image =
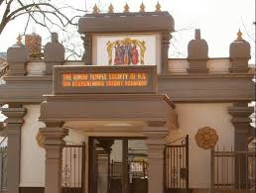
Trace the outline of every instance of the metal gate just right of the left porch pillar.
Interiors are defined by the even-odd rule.
[[[85,145],[65,145],[63,150],[63,193],[84,193]]]

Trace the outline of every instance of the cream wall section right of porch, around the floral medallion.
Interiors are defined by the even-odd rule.
[[[171,131],[169,142],[190,135],[190,187],[209,188],[210,150],[196,145],[194,136],[198,129],[211,127],[216,130],[218,146],[230,149],[234,145],[234,128],[230,123],[228,107],[231,103],[176,104],[180,128]]]

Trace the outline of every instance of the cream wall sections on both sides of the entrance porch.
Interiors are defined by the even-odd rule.
[[[231,103],[182,104],[177,103],[180,128],[171,131],[169,142],[190,135],[190,185],[191,188],[208,188],[210,176],[210,151],[196,145],[194,136],[198,129],[211,127],[219,136],[218,145],[233,145],[234,129],[227,110]],[[21,187],[43,187],[45,183],[45,150],[37,144],[38,129],[44,127],[37,121],[40,105],[25,105],[27,115],[22,128]],[[206,116],[205,116],[206,115]],[[202,119],[203,118],[203,119]],[[86,140],[81,133],[69,131],[64,139],[67,144],[79,144]],[[29,171],[29,172],[28,172]],[[206,177],[208,176],[208,177]]]

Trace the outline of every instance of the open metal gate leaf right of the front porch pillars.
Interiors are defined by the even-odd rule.
[[[166,193],[189,193],[189,136],[166,145]]]

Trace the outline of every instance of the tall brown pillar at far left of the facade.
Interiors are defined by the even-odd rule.
[[[2,108],[2,113],[7,117],[8,137],[8,165],[7,165],[7,190],[19,193],[20,186],[20,152],[21,152],[21,127],[26,109],[21,104],[9,104],[9,108]]]

